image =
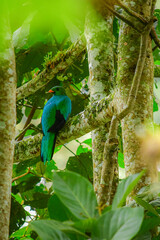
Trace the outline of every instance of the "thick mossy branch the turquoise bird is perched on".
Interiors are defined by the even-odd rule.
[[[73,139],[79,138],[104,125],[112,118],[112,98],[106,97],[89,105],[83,112],[69,119],[64,128],[59,132],[56,144],[64,144]],[[14,161],[24,161],[40,154],[42,134],[25,138],[15,146]]]

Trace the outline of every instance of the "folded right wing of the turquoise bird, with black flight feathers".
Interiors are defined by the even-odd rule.
[[[56,101],[55,122],[49,128],[49,132],[58,132],[65,124],[71,113],[71,100],[67,96],[61,96]]]

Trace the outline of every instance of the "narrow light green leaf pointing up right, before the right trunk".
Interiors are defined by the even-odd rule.
[[[127,196],[137,185],[138,181],[144,175],[144,173],[145,173],[145,170],[140,173],[131,175],[120,182],[117,188],[117,192],[113,199],[112,209],[116,209],[118,207],[123,206]]]

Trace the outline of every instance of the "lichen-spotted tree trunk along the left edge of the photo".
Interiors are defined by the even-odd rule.
[[[6,1],[0,3],[0,240],[9,238],[16,126],[16,70]]]

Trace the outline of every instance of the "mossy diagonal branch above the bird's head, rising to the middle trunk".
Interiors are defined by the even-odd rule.
[[[81,38],[74,43],[70,48],[59,52],[49,63],[46,69],[39,73],[34,79],[17,89],[17,100],[28,97],[34,94],[40,88],[44,87],[50,82],[56,74],[65,71],[73,62],[85,52],[85,39]]]

